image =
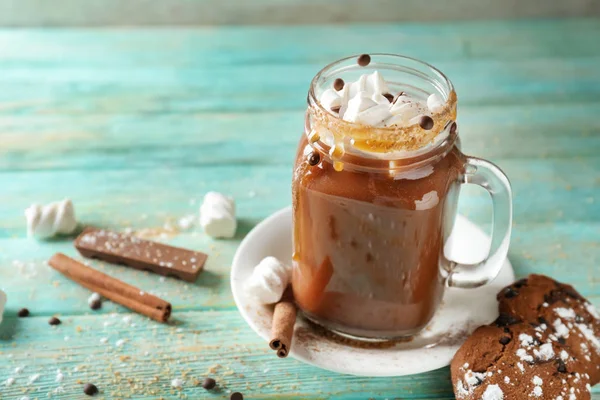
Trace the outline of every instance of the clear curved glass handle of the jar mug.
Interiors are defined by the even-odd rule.
[[[512,190],[504,173],[489,161],[467,157],[463,184],[479,185],[492,198],[492,243],[485,260],[477,264],[450,263],[448,286],[476,288],[492,281],[508,254],[512,229]]]

